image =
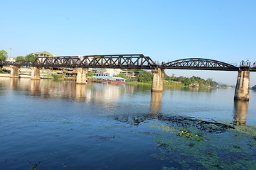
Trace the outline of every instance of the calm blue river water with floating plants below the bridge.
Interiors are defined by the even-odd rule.
[[[256,92],[0,78],[0,169],[256,169]]]

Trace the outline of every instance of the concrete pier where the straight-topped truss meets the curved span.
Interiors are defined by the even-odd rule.
[[[164,69],[152,69],[153,81],[151,91],[163,91]]]

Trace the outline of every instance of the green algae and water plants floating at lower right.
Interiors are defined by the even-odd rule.
[[[152,156],[170,160],[184,169],[256,169],[255,127],[235,126],[223,132],[197,127],[181,127],[175,123],[151,126],[160,130],[154,138],[159,152]],[[174,167],[166,165],[162,169],[176,169]]]

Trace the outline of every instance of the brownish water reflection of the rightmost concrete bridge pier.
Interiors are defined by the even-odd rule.
[[[235,101],[234,103],[234,125],[245,125],[249,101]]]

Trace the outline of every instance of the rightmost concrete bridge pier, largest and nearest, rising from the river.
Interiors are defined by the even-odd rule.
[[[249,101],[250,71],[239,70],[234,100]]]

